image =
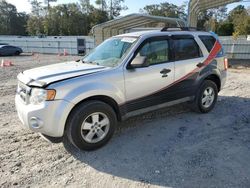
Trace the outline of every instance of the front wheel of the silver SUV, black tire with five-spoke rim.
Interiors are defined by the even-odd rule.
[[[81,150],[95,150],[107,144],[116,125],[116,114],[109,105],[87,101],[70,113],[63,141],[69,141]]]

